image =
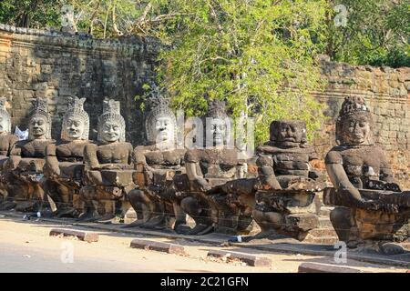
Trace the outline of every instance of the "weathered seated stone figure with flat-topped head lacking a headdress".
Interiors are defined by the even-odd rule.
[[[302,240],[318,224],[313,198],[324,184],[310,161],[315,159],[307,145],[302,121],[273,121],[270,141],[257,148],[259,176],[253,218],[263,236],[284,235]]]

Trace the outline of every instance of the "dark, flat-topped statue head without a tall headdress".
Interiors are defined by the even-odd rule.
[[[269,132],[270,140],[276,146],[287,148],[306,146],[306,123],[304,121],[274,120]]]

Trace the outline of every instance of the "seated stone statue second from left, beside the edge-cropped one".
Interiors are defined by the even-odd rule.
[[[46,146],[51,139],[51,118],[47,99],[36,98],[29,115],[28,139],[15,143],[7,162],[7,193],[17,210],[32,211],[47,204],[41,187]]]

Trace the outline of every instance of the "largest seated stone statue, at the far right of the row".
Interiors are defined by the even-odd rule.
[[[356,247],[408,238],[410,192],[401,192],[383,150],[374,145],[374,122],[361,97],[346,97],[336,121],[334,146],[325,158],[334,188],[324,202],[339,239]],[[363,244],[362,244],[363,243]]]

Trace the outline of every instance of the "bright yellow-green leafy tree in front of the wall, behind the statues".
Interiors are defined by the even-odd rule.
[[[172,103],[200,115],[225,99],[234,116],[255,117],[258,143],[274,119],[302,119],[313,133],[323,106],[313,55],[323,49],[324,0],[150,1],[148,25],[172,49],[160,54],[159,80]]]

